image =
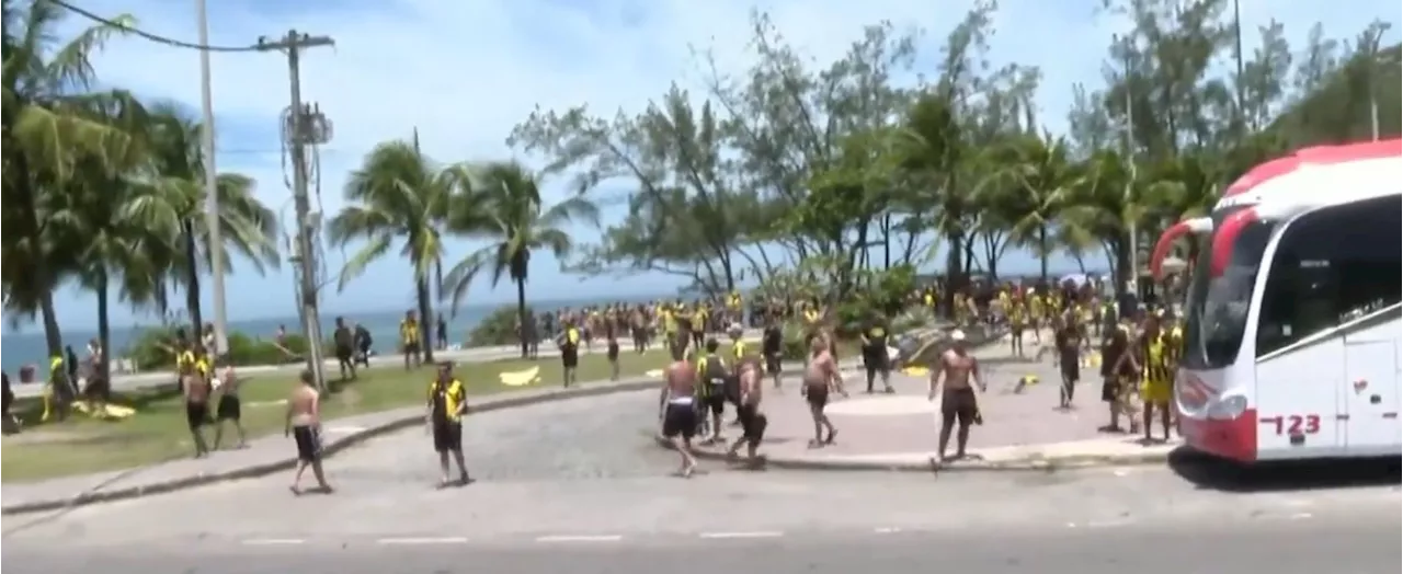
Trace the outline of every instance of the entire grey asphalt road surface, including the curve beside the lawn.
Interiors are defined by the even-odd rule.
[[[0,518],[0,571],[1397,571],[1388,465],[936,477],[704,463],[680,480],[648,441],[655,400],[471,417],[480,481],[463,488],[432,487],[429,439],[411,429],[331,459],[333,495],[293,498],[272,476]]]

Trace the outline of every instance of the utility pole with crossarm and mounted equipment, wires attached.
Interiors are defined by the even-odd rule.
[[[283,118],[283,139],[292,156],[292,198],[297,211],[297,254],[296,265],[302,279],[303,334],[307,338],[307,368],[311,371],[317,389],[325,390],[321,358],[321,317],[317,314],[317,250],[316,234],[320,233],[320,213],[311,215],[311,198],[307,196],[307,154],[306,146],[325,143],[331,129],[327,118],[314,105],[302,101],[302,51],[307,48],[334,46],[330,36],[311,36],[288,31],[279,39],[258,38],[262,51],[285,52],[288,74],[292,80],[292,104]]]

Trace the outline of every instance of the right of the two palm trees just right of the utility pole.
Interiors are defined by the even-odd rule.
[[[445,276],[452,293],[450,307],[457,312],[469,285],[483,274],[492,274],[492,286],[502,276],[516,283],[516,317],[526,326],[526,281],[532,251],[549,250],[564,261],[574,248],[571,223],[599,226],[599,209],[584,196],[571,196],[543,206],[540,184],[526,167],[515,161],[491,163],[474,174],[470,192],[453,196],[448,229],[490,243],[473,251]],[[521,328],[522,358],[530,351],[528,330]]]

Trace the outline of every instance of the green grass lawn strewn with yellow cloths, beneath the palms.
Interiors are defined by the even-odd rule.
[[[647,355],[623,352],[620,375],[638,376],[666,363],[668,354],[652,349]],[[540,366],[540,382],[528,387],[508,387],[498,375]],[[340,417],[424,404],[427,386],[435,371],[424,366],[405,372],[403,366],[379,366],[361,372],[359,380],[337,385],[324,399],[323,417]],[[539,361],[497,361],[459,363],[456,373],[467,385],[469,400],[474,396],[530,387],[558,387],[560,358]],[[337,376],[334,371],[328,376]],[[582,383],[609,379],[610,369],[602,349],[579,358],[578,380]],[[174,379],[174,376],[173,376]],[[288,396],[296,375],[290,372],[258,375],[244,382],[243,424],[248,438],[267,436],[282,431]],[[121,470],[163,460],[189,456],[189,432],[185,428],[185,407],[171,387],[142,390],[114,397],[114,404],[136,408],[136,414],[122,421],[98,421],[74,413],[69,421],[39,424],[42,406],[38,400],[21,400],[15,413],[24,421],[24,432],[0,438],[0,483],[34,481],[69,474]],[[212,403],[213,404],[213,403]],[[233,443],[230,428],[220,448]],[[213,431],[206,428],[206,438]]]

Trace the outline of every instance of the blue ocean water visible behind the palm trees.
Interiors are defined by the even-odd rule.
[[[658,298],[672,298],[675,295],[659,295]],[[620,298],[609,299],[607,302],[648,302],[654,298],[634,296],[634,298]],[[537,312],[556,310],[560,307],[581,307],[585,305],[603,305],[605,300],[540,300],[528,302]],[[467,305],[457,310],[456,317],[448,320],[449,344],[463,344],[467,340],[467,333],[473,330],[484,317],[491,314],[494,310],[502,305]],[[203,309],[206,313],[206,321],[213,319],[209,313],[210,309]],[[382,310],[382,312],[368,312],[368,313],[334,313],[321,312],[321,333],[325,337],[331,337],[334,323],[337,316],[344,316],[348,323],[359,321],[365,328],[370,330],[370,335],[375,338],[375,345],[379,351],[386,351],[389,347],[398,341],[400,320],[404,319],[404,309],[398,310]],[[233,319],[233,317],[231,317]],[[153,321],[154,323],[154,321]],[[122,356],[128,345],[140,337],[140,333],[152,327],[153,323],[147,323],[145,327],[137,326],[112,326],[112,356]],[[302,333],[302,326],[297,316],[290,317],[269,317],[269,319],[254,319],[254,320],[230,320],[229,330],[239,331],[248,337],[272,340],[278,333],[279,326],[286,326],[288,333]],[[73,349],[81,356],[83,348],[88,340],[97,338],[95,328],[63,328],[63,342],[73,345]],[[41,372],[48,361],[43,356],[48,354],[43,342],[43,328],[41,326],[27,326],[22,331],[7,331],[0,334],[0,369],[4,369],[11,376],[18,373],[22,365],[38,365]]]

